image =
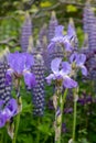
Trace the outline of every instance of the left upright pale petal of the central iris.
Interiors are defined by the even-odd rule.
[[[55,58],[51,63],[51,69],[54,74],[58,73],[58,67],[62,62],[62,58]]]

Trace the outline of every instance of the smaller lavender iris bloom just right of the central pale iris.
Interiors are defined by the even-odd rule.
[[[77,53],[73,53],[70,57],[71,63],[75,63],[75,66],[77,68],[82,69],[82,74],[84,76],[87,76],[87,68],[85,67],[85,62],[86,62],[86,55],[84,54],[77,54]]]

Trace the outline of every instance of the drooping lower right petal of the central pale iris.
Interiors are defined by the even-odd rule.
[[[77,87],[77,82],[70,78],[68,76],[64,78],[63,85],[65,88],[75,88]]]

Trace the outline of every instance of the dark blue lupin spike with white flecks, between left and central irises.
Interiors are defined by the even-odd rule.
[[[35,75],[36,85],[32,89],[33,97],[33,114],[43,116],[45,107],[45,67],[43,58],[40,54],[35,57],[35,64],[32,67],[32,72]]]

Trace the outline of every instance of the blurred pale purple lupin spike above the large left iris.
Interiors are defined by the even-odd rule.
[[[25,21],[22,26],[22,32],[21,32],[21,48],[23,52],[26,52],[28,46],[29,46],[29,38],[32,35],[32,23],[31,23],[31,18],[29,13],[25,14]]]

